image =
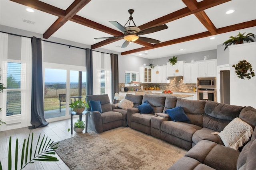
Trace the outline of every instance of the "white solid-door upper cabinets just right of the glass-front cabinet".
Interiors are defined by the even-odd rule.
[[[156,74],[156,71],[158,71],[158,74]],[[152,83],[169,83],[166,77],[167,66],[155,66],[154,69],[152,69]]]

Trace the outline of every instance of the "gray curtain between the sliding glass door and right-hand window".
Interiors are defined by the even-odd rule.
[[[86,95],[93,94],[92,49],[86,49]]]

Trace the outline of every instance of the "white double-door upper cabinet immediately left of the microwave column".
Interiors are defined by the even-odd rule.
[[[196,83],[198,77],[198,63],[185,63],[183,65],[183,83]]]

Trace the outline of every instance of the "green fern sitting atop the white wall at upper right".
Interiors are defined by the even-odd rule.
[[[249,42],[254,42],[254,40],[252,39],[252,37],[254,38],[254,34],[253,33],[248,33],[246,35],[244,35],[244,33],[238,33],[238,35],[236,35],[236,37],[231,36],[230,39],[228,39],[227,41],[225,41],[222,45],[225,45],[225,49],[228,48],[229,45],[234,45],[234,44],[242,44],[244,43],[244,41],[246,41],[247,43]]]

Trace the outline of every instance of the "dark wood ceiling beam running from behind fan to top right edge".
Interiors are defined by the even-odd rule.
[[[190,0],[188,0],[188,1],[190,1]],[[230,0],[204,0],[204,1],[198,2],[198,4],[197,4],[198,8],[196,10],[190,11],[190,9],[188,7],[182,8],[178,11],[167,14],[166,16],[162,16],[156,20],[153,20],[153,21],[150,21],[143,25],[140,25],[139,28],[141,30],[143,30],[143,29],[147,29],[147,28],[154,27],[157,25],[162,25],[162,24],[168,23],[170,21],[174,21],[174,20],[180,19],[182,17],[194,14],[196,12],[200,12],[202,10],[206,10],[208,8],[212,8],[214,6],[226,3],[228,1],[230,1]]]

